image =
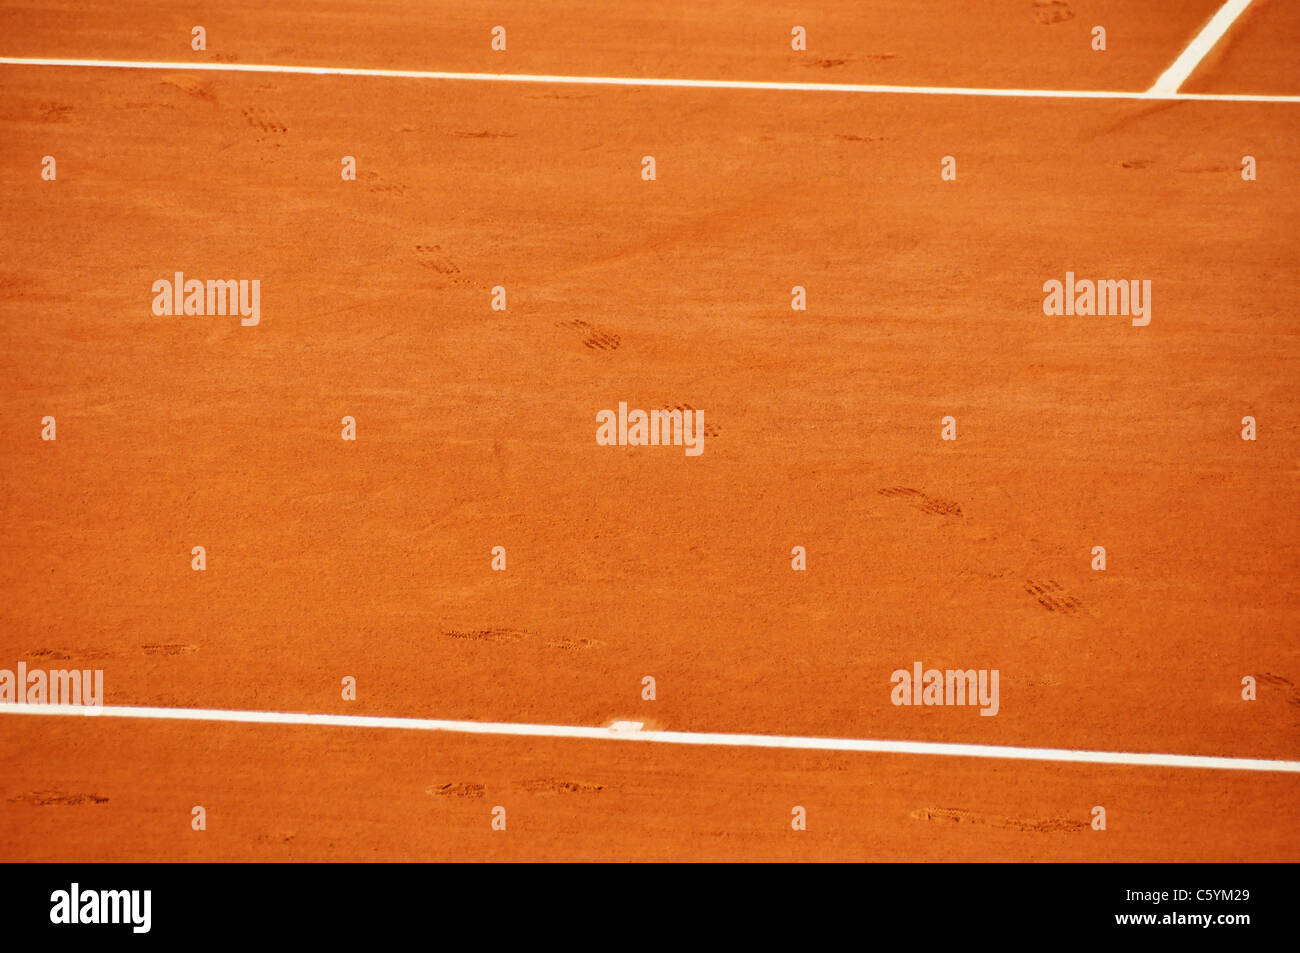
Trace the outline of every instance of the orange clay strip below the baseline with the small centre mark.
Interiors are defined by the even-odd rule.
[[[1282,775],[21,720],[40,768],[3,781],[8,859],[1295,859]]]

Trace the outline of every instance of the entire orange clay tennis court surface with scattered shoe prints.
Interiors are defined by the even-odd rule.
[[[812,7],[4,3],[0,56],[1141,92],[1221,4]],[[1182,87],[1240,100],[0,65],[0,667],[1292,764],[10,711],[0,857],[1300,859],[1295,38],[1256,0]],[[177,270],[260,324],[155,316]],[[1150,324],[1045,316],[1066,270]],[[703,454],[598,446],[620,400]],[[916,660],[998,714],[894,706]]]

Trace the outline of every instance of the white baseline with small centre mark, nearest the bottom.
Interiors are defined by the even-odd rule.
[[[1010,745],[956,745],[936,741],[879,741],[868,738],[818,738],[785,735],[723,735],[686,731],[637,731],[627,722],[598,728],[575,724],[526,724],[520,722],[452,722],[436,718],[385,715],[321,715],[289,711],[229,711],[224,709],[151,709],[131,705],[0,705],[0,714],[78,715],[82,718],[155,718],[179,722],[243,722],[254,724],[306,724],[334,728],[398,728],[443,731],[460,735],[514,735],[595,741],[644,741],[663,745],[720,745],[724,748],[798,748],[816,751],[874,751],[878,754],[923,754],[949,758],[1004,758],[1011,761],[1067,761],[1089,764],[1138,764],[1143,767],[1191,767],[1210,771],[1284,771],[1300,774],[1300,761],[1262,758],[1214,758],[1201,754],[1139,754],[1135,751],[1076,751],[1067,748],[1015,748]],[[632,723],[634,724],[634,723]]]

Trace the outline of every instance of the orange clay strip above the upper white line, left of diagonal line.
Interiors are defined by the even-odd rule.
[[[1262,0],[1256,0],[1261,3]],[[693,79],[1144,90],[1218,0],[261,0],[204,4],[6,0],[12,56]],[[202,21],[202,22],[200,22]],[[190,49],[190,30],[208,49]],[[507,49],[489,34],[507,30]],[[790,49],[790,30],[807,51]],[[1106,29],[1105,53],[1089,46]],[[21,40],[21,42],[20,42]],[[1277,42],[1277,40],[1275,40]],[[1280,43],[1277,43],[1279,47]],[[448,88],[456,98],[473,92]],[[404,96],[407,94],[398,94]],[[404,101],[391,101],[402,112]],[[716,107],[715,107],[716,108]]]

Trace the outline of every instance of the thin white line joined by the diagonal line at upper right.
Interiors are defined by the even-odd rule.
[[[880,92],[919,96],[1001,96],[1028,99],[1199,100],[1210,103],[1300,103],[1296,96],[1219,92],[1121,92],[1108,90],[1000,90],[966,86],[879,86],[871,83],[777,83],[745,79],[663,79],[649,77],[569,77],[537,73],[443,73],[421,69],[361,69],[351,66],[272,66],[252,62],[156,62],[148,60],[49,60],[0,56],[9,66],[84,66],[103,69],[207,70],[212,73],[300,73],[329,77],[389,79],[458,79],[480,83],[558,83],[575,86],[659,86],[699,90],[784,90],[793,92]]]

